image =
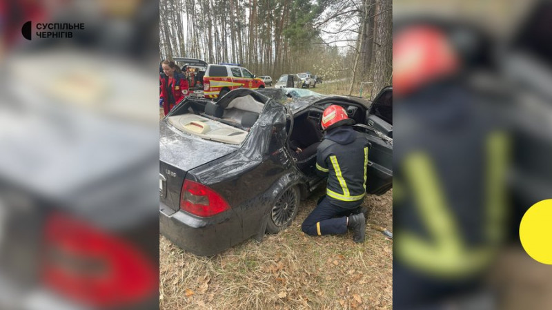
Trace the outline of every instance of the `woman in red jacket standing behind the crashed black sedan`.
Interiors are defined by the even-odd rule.
[[[167,115],[181,99],[188,95],[188,80],[174,61],[164,60],[161,62],[161,66],[167,77],[166,83],[161,86],[159,97],[163,100],[163,109]]]

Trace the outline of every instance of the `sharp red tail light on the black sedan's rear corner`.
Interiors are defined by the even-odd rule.
[[[201,217],[213,216],[230,209],[221,195],[204,184],[184,180],[180,209]]]

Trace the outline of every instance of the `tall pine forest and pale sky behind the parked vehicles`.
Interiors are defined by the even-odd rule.
[[[339,93],[391,85],[391,0],[160,0],[162,59],[239,63],[273,80],[311,72]]]

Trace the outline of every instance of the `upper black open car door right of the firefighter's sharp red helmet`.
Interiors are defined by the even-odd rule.
[[[384,135],[393,137],[393,87],[383,88],[375,97],[366,115],[366,124]]]

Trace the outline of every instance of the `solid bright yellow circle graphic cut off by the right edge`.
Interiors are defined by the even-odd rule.
[[[538,262],[552,264],[552,199],[533,204],[520,223],[523,249]]]

